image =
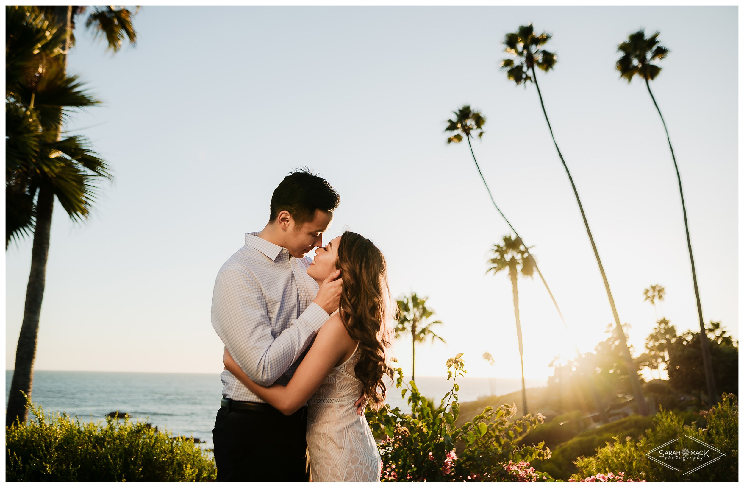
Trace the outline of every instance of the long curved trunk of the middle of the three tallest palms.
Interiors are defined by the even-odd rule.
[[[591,236],[591,230],[589,229],[589,221],[586,220],[586,214],[584,213],[583,205],[581,205],[581,199],[579,198],[579,192],[576,189],[576,185],[574,184],[574,179],[573,177],[571,177],[571,172],[568,171],[568,165],[565,164],[565,159],[563,159],[563,155],[560,152],[560,148],[558,147],[556,138],[553,135],[553,128],[551,127],[551,121],[550,119],[548,119],[548,112],[545,111],[545,103],[542,101],[542,93],[540,92],[540,86],[537,84],[537,74],[535,73],[534,66],[532,66],[532,77],[533,77],[532,78],[533,81],[535,82],[535,86],[537,88],[537,95],[540,98],[540,106],[542,106],[542,113],[543,115],[545,115],[545,122],[548,123],[548,130],[550,130],[551,132],[551,138],[553,139],[553,144],[556,147],[560,161],[563,164],[563,168],[565,169],[565,173],[568,175],[568,180],[571,182],[571,188],[574,189],[574,196],[576,196],[576,202],[579,204],[579,210],[581,211],[581,217],[583,218],[584,226],[586,227],[586,234],[589,235],[591,249],[594,250],[594,257],[597,258],[597,265],[600,268],[600,274],[602,275],[602,280],[604,281],[604,286],[605,286],[605,290],[607,291],[607,298],[609,299],[610,308],[612,308],[612,316],[614,316],[614,319],[615,319],[615,330],[618,333],[618,338],[621,339],[620,350],[623,352],[623,358],[625,359],[626,367],[628,369],[628,373],[630,377],[630,384],[633,389],[633,397],[635,397],[635,405],[638,407],[638,414],[641,416],[647,416],[649,414],[649,409],[646,403],[646,399],[644,398],[643,389],[641,389],[641,381],[638,379],[638,369],[635,368],[635,363],[633,362],[633,359],[630,356],[630,349],[628,348],[628,339],[625,336],[625,331],[623,331],[622,323],[620,323],[620,317],[618,316],[618,310],[615,307],[615,299],[612,298],[612,292],[609,290],[609,282],[607,281],[607,275],[605,275],[604,267],[602,266],[602,261],[600,260],[600,254],[599,252],[597,252],[597,245],[594,244],[594,237]]]

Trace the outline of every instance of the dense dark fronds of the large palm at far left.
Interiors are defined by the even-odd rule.
[[[96,182],[111,178],[86,138],[60,138],[71,109],[100,102],[65,73],[60,42],[66,33],[43,11],[6,7],[6,248],[33,232],[40,188],[50,188],[68,216],[80,220],[89,214]]]

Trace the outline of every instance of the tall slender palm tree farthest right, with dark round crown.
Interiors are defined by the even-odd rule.
[[[658,108],[658,103],[656,103],[653,92],[651,92],[651,85],[649,83],[650,80],[655,79],[655,77],[661,73],[661,68],[658,65],[655,65],[654,62],[657,60],[663,60],[669,53],[667,48],[659,44],[658,36],[659,33],[655,32],[651,37],[646,39],[646,33],[643,29],[630,34],[627,41],[621,42],[620,45],[618,45],[618,51],[623,53],[623,55],[620,57],[618,62],[615,63],[615,69],[620,71],[620,77],[628,80],[628,83],[630,83],[636,75],[643,78],[653,105],[656,107],[656,112],[658,112],[658,116],[661,118],[664,132],[667,134],[667,143],[669,144],[670,153],[672,153],[672,162],[674,163],[674,170],[677,174],[679,198],[682,200],[684,234],[687,237],[687,252],[690,255],[690,267],[693,270],[693,289],[695,290],[695,300],[697,303],[698,321],[700,325],[700,349],[702,350],[703,368],[705,368],[705,386],[708,391],[708,403],[712,405],[716,402],[718,394],[716,393],[716,379],[713,375],[711,347],[708,345],[708,334],[705,333],[705,322],[702,319],[702,305],[700,304],[700,292],[697,285],[695,259],[693,258],[693,245],[690,241],[690,226],[687,224],[687,207],[684,205],[684,193],[682,192],[682,177],[679,176],[679,167],[677,166],[677,159],[674,156],[674,148],[672,147],[672,140],[669,137],[667,123],[664,121],[664,116],[661,115],[661,109]]]

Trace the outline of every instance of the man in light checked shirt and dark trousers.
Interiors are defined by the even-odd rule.
[[[222,265],[212,298],[212,325],[248,377],[286,385],[315,333],[339,307],[341,279],[318,288],[307,252],[322,246],[339,194],[306,170],[289,173],[272,195],[269,223],[246,234],[246,246]],[[222,371],[214,423],[219,482],[307,482],[307,407],[284,416]]]

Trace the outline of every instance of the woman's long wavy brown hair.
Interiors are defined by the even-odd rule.
[[[341,269],[339,316],[361,351],[354,375],[362,382],[370,406],[379,409],[392,377],[388,362],[391,343],[391,300],[385,257],[367,238],[351,231],[341,234],[336,268]]]

